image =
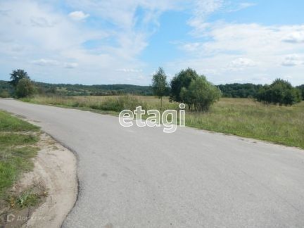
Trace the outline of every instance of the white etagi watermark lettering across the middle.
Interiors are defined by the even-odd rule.
[[[179,104],[179,126],[185,126],[185,105]],[[141,120],[142,115],[148,115],[146,120]],[[122,127],[132,127],[134,125],[134,115],[136,115],[136,125],[138,127],[160,127],[163,125],[163,132],[172,133],[177,129],[177,110],[165,110],[162,115],[156,109],[143,110],[138,106],[134,113],[132,110],[122,110],[119,115],[119,122]]]

